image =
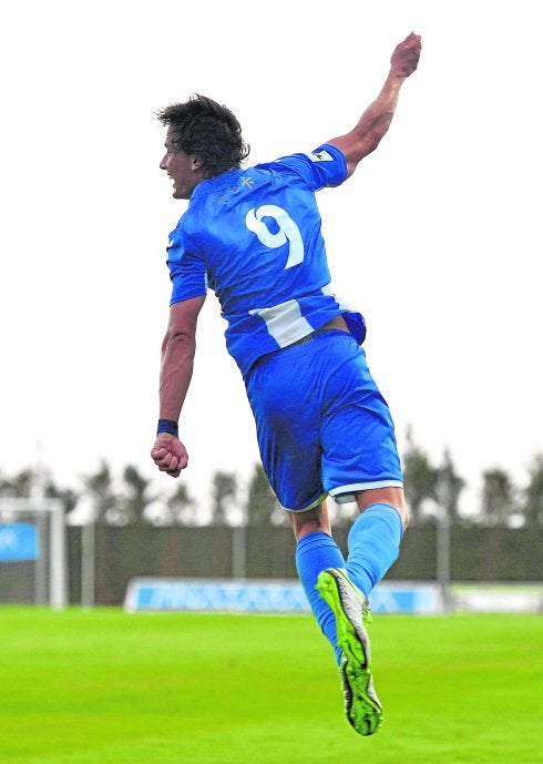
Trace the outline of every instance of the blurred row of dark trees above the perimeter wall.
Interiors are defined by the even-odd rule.
[[[473,508],[469,517],[459,511],[467,483],[458,473],[447,449],[441,464],[433,464],[416,442],[409,428],[402,464],[411,524],[434,523],[440,512],[444,512],[451,524],[543,524],[543,455],[533,457],[524,486],[518,486],[511,475],[500,467],[485,470],[482,473],[479,506]],[[37,488],[48,498],[60,499],[66,515],[83,502],[96,522],[112,526],[197,526],[202,524],[203,510],[206,524],[213,526],[277,526],[288,522],[260,465],[254,466],[247,486],[242,486],[233,472],[215,471],[209,506],[205,508],[182,481],[177,481],[167,496],[156,495],[152,480],[133,465],[124,468],[120,487],[105,460],[95,471],[82,477],[80,489],[61,488],[51,473],[39,473],[32,468],[22,469],[14,476],[0,472],[0,498],[35,496]],[[336,526],[346,524],[355,513],[356,507],[352,505],[335,506],[334,522]]]

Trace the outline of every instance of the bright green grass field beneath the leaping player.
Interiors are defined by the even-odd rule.
[[[0,608],[2,764],[541,764],[537,615],[376,617],[381,731],[310,617]]]

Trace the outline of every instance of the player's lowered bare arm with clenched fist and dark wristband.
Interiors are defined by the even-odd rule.
[[[160,419],[177,422],[193,376],[196,323],[205,297],[175,303],[162,343]],[[151,457],[162,472],[177,478],[188,464],[185,446],[172,432],[160,432]]]

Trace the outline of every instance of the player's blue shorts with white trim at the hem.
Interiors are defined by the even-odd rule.
[[[326,329],[266,355],[245,384],[264,469],[285,509],[402,486],[387,401],[350,334]]]

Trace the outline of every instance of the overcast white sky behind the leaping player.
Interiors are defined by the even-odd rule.
[[[185,203],[158,170],[154,113],[226,103],[250,162],[354,126],[390,53],[419,71],[378,151],[318,196],[337,291],[365,313],[396,419],[477,500],[482,470],[525,482],[543,451],[537,3],[21,0],[3,7],[0,471],[42,461],[78,488],[102,458],[155,478],[167,234]],[[257,461],[213,294],[181,430],[185,479]],[[174,481],[156,473],[157,490]],[[470,498],[471,497],[471,498]]]

